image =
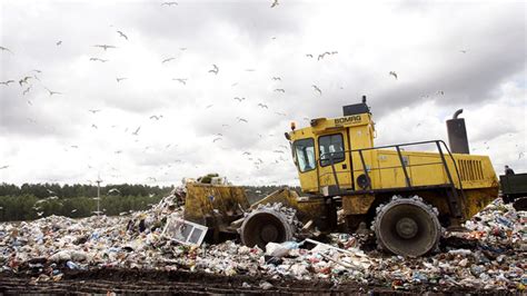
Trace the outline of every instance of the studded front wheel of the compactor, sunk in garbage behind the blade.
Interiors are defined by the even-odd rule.
[[[241,243],[248,247],[266,247],[268,243],[291,240],[299,225],[296,210],[268,205],[250,213],[240,229]]]

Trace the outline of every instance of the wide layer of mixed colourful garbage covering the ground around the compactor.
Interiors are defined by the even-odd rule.
[[[66,269],[141,268],[250,275],[275,279],[357,282],[394,289],[426,285],[524,290],[527,286],[527,215],[496,199],[471,220],[468,233],[447,234],[470,248],[445,246],[422,258],[362,251],[355,235],[269,243],[266,249],[227,240],[181,244],[163,233],[167,217],[182,217],[177,195],[130,215],[70,219],[51,216],[0,224],[0,268],[34,280],[60,280]],[[262,285],[268,286],[265,282]]]

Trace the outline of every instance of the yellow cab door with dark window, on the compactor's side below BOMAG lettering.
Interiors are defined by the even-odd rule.
[[[336,174],[340,188],[351,189],[351,160],[346,130],[318,136],[317,145],[320,187],[337,185],[335,180]],[[331,167],[331,158],[335,174]]]

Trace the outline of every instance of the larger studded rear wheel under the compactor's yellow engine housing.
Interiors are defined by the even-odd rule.
[[[441,237],[437,209],[421,198],[394,197],[377,208],[374,229],[380,248],[397,255],[419,257],[434,249]]]

